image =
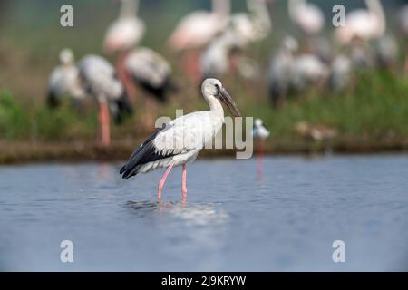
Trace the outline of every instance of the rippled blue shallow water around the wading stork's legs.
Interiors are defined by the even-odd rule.
[[[0,167],[1,270],[408,270],[408,156],[197,160],[163,170]],[[73,263],[60,243],[73,241]],[[345,242],[345,263],[332,243]]]

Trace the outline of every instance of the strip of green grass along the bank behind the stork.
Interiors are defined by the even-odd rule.
[[[340,136],[408,140],[408,81],[393,73],[361,73],[353,90],[337,94],[304,92],[287,100],[280,110],[270,106],[262,89],[254,88],[256,92],[249,93],[242,85],[231,87],[231,83],[228,89],[240,111],[263,119],[277,139],[296,138],[296,123],[307,121],[334,128]],[[206,108],[202,99],[188,99],[187,94],[174,97],[170,106],[160,109],[160,115],[173,118],[176,108],[184,108],[186,113]],[[141,109],[137,108],[141,104],[122,127],[113,126],[115,138],[140,133],[136,124]],[[4,140],[91,140],[96,130],[96,106],[78,113],[65,102],[59,110],[49,110],[44,102],[17,102],[12,92],[0,92],[0,133]]]

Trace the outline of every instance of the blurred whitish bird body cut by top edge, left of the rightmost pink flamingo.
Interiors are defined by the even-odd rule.
[[[325,14],[306,0],[288,0],[288,10],[290,19],[307,35],[316,35],[325,26]]]

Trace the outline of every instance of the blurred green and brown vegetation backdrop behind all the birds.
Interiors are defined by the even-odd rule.
[[[320,0],[318,4],[331,19],[333,5],[343,4],[346,11],[364,7],[363,0]],[[386,8],[388,31],[395,30],[395,14],[406,1],[383,1]],[[60,7],[71,4],[74,9],[74,27],[59,24]],[[233,0],[233,12],[246,11],[246,3]],[[262,43],[251,46],[248,55],[256,59],[266,75],[268,59],[283,35],[300,36],[287,16],[287,1],[276,0],[269,5],[274,24],[272,34]],[[197,9],[209,9],[209,0],[143,1],[140,17],[147,33],[142,45],[163,54],[172,63],[175,75],[185,88],[180,96],[158,114],[174,116],[174,109],[195,111],[206,108],[196,88],[186,88],[185,78],[177,68],[174,53],[165,42],[180,17]],[[102,53],[106,28],[116,19],[119,2],[116,0],[1,0],[0,2],[0,140],[95,140],[97,128],[96,107],[87,114],[72,111],[69,105],[60,111],[49,111],[44,105],[49,73],[58,64],[58,53],[71,47],[77,59],[87,53]],[[332,40],[332,26],[327,20],[323,35]],[[402,47],[404,42],[399,37]],[[403,60],[404,52],[401,56]],[[106,55],[105,55],[106,56]],[[112,57],[108,58],[113,61]],[[294,127],[299,121],[324,124],[339,131],[333,147],[347,144],[384,141],[390,147],[406,147],[408,140],[408,82],[401,72],[371,71],[362,73],[353,92],[332,95],[331,92],[306,92],[290,101],[285,110],[274,110],[267,98],[265,80],[257,84],[239,82],[232,76],[228,88],[234,93],[238,106],[247,116],[261,117],[273,131],[270,148],[290,150],[296,142],[303,142]],[[261,85],[258,85],[261,84]],[[251,87],[252,85],[252,87]],[[140,108],[141,109],[141,108]],[[113,140],[142,138],[136,115],[124,126],[113,129]],[[139,110],[140,111],[140,110]],[[396,144],[396,145],[395,145]],[[306,147],[314,146],[306,144]],[[296,147],[296,146],[295,146]],[[380,146],[381,147],[381,146]]]

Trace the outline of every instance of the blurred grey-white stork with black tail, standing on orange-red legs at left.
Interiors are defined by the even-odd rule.
[[[99,121],[102,145],[111,143],[110,110],[116,122],[125,114],[131,114],[131,106],[121,81],[112,64],[98,55],[87,55],[78,64],[83,87],[100,106]]]

